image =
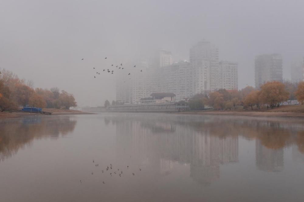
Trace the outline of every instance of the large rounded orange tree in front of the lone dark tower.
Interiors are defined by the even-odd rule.
[[[271,108],[275,106],[279,107],[281,102],[288,100],[288,97],[289,93],[282,82],[272,81],[261,86],[259,99]]]

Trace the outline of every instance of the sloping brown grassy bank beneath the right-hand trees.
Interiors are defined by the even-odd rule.
[[[274,107],[273,109],[243,109],[242,107],[233,110],[208,109],[202,111],[180,112],[178,114],[304,118],[304,105],[284,105],[280,107]]]

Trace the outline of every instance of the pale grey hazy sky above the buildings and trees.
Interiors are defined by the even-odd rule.
[[[281,53],[290,79],[291,63],[304,56],[303,8],[303,0],[0,0],[0,68],[97,106],[115,99],[116,76],[93,79],[93,66],[159,48],[188,60],[190,47],[206,39],[219,59],[239,62],[239,88],[254,86],[258,54]]]

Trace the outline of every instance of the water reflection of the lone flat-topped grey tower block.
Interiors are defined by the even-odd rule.
[[[257,169],[280,172],[284,167],[283,149],[270,149],[262,145],[261,140],[255,140],[255,157]]]

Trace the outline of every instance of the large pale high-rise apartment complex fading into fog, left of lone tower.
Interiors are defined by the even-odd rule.
[[[119,77],[116,100],[123,103],[141,103],[152,93],[174,93],[175,101],[188,99],[197,93],[218,89],[238,89],[238,63],[220,61],[219,50],[206,40],[190,49],[190,62],[172,62],[172,54],[159,50],[152,60],[136,62],[130,78]],[[140,72],[139,69],[143,69]]]

